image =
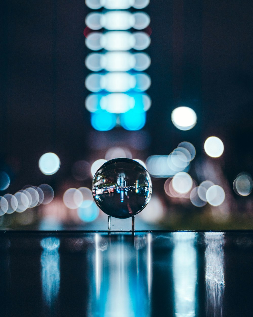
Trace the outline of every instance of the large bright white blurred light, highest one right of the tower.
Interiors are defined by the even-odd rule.
[[[171,113],[171,120],[179,130],[187,131],[197,123],[195,111],[189,107],[177,107]]]

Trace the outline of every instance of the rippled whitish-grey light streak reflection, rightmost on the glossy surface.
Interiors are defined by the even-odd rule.
[[[223,232],[205,232],[205,243],[207,316],[220,317],[225,288]]]

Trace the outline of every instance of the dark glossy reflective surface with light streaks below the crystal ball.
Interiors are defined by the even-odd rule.
[[[251,316],[253,232],[0,232],[0,316]]]

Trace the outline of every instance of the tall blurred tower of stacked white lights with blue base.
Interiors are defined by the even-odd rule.
[[[131,6],[143,9],[148,1],[86,1],[95,11],[87,15],[85,23],[92,30],[85,44],[90,53],[85,65],[93,73],[85,80],[89,94],[86,109],[91,112],[91,125],[98,131],[108,131],[116,125],[124,129],[140,130],[146,122],[150,97],[144,92],[150,87],[150,77],[142,71],[150,66],[144,52],[150,36],[144,30],[150,23],[145,12],[130,12]],[[132,32],[131,28],[136,31]]]

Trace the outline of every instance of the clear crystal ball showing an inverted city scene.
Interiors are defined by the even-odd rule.
[[[92,194],[107,215],[128,218],[147,205],[152,194],[149,173],[132,159],[111,159],[96,172]]]

